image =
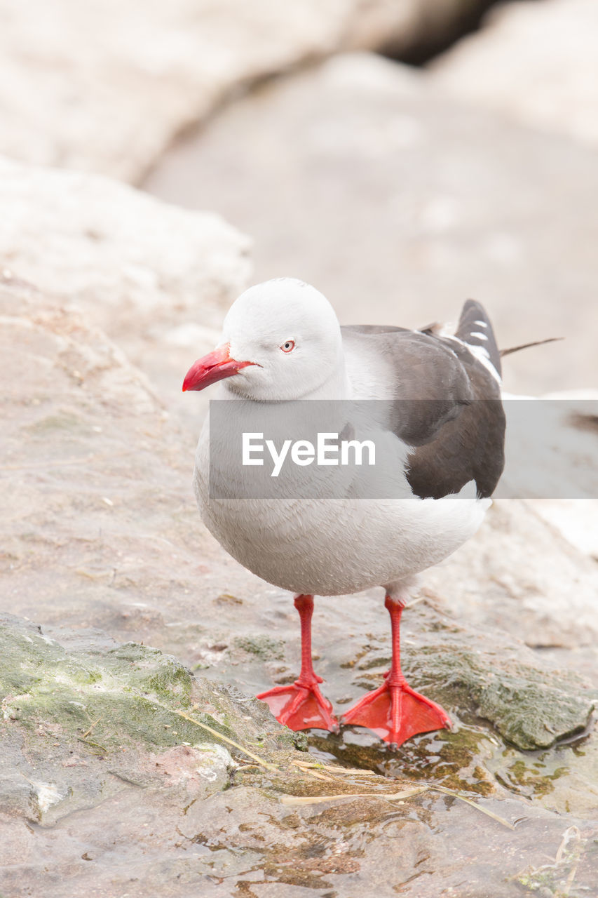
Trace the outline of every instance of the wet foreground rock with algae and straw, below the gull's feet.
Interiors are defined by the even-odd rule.
[[[516,896],[540,878],[558,888],[574,868],[582,889],[591,882],[592,825],[564,827],[479,770],[469,784],[447,775],[452,758],[467,776],[459,732],[418,737],[396,756],[346,739],[339,767],[297,752],[304,739],[261,703],[155,649],[85,631],[64,630],[58,642],[13,615],[0,622],[0,646],[6,894],[36,894],[40,876],[48,895],[65,894],[66,879],[69,894],[177,896],[349,896],[373,883],[384,895],[475,895],[488,881],[493,894]],[[320,742],[330,754],[330,740]],[[376,751],[385,777],[368,771]],[[431,753],[441,776],[430,777]],[[522,765],[508,773],[529,791]],[[475,858],[480,832],[485,853]],[[542,863],[550,850],[554,862]]]

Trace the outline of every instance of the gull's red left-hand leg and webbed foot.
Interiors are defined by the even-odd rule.
[[[301,673],[290,685],[275,686],[260,692],[257,698],[268,704],[279,723],[292,730],[317,728],[336,733],[337,718],[332,714],[330,701],[321,694],[318,683],[322,679],[312,666],[313,596],[295,596],[295,608],[301,618]]]

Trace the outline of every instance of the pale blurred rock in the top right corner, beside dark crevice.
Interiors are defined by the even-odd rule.
[[[432,64],[448,96],[532,128],[598,144],[593,0],[510,3]]]

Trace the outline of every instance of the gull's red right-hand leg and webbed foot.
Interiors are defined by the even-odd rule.
[[[391,614],[392,664],[382,686],[368,692],[343,715],[342,722],[367,726],[384,742],[400,745],[412,735],[446,727],[451,721],[444,710],[411,689],[400,669],[400,615],[402,605],[390,595],[384,602]]]

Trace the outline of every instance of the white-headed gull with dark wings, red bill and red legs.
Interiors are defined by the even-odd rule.
[[[194,472],[207,529],[245,568],[295,594],[301,622],[299,676],[258,699],[293,730],[337,732],[339,721],[312,666],[313,598],[380,586],[391,618],[391,668],[341,722],[367,727],[391,746],[450,728],[444,709],[413,690],[401,671],[400,618],[418,574],[476,533],[503,471],[500,353],[482,305],[468,300],[453,330],[341,327],[315,287],[291,277],[269,280],[233,303],[221,341],[191,365],[183,391],[215,383],[215,398],[238,403],[229,418],[238,409],[239,419],[250,423],[265,410],[283,414],[296,401],[316,409],[321,405],[303,401],[383,400],[373,406],[382,409],[376,427],[385,439],[385,470],[398,489],[369,497],[367,486],[351,487],[331,506],[317,492],[297,496],[287,478],[276,482],[275,499],[248,497],[238,441],[224,439],[216,452],[208,415]],[[315,468],[313,482],[322,482]],[[247,476],[255,470],[242,469]],[[226,485],[225,495],[214,495],[215,482]],[[367,485],[367,475],[360,482]]]

